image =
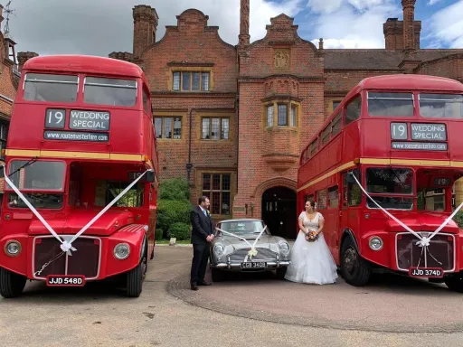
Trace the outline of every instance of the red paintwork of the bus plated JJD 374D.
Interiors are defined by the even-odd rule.
[[[415,98],[415,110],[413,117],[371,117],[368,115],[366,92],[390,91],[402,92],[411,91]],[[433,76],[421,75],[392,75],[378,76],[362,80],[354,87],[343,99],[333,114],[328,117],[320,128],[320,131],[313,136],[302,151],[298,168],[298,212],[304,211],[305,198],[308,196],[317,201],[317,191],[323,190],[335,185],[338,186],[338,205],[335,207],[328,206],[328,194],[326,192],[326,209],[319,211],[324,215],[326,224],[324,235],[329,249],[331,250],[336,264],[340,263],[340,249],[342,237],[345,230],[352,230],[354,238],[358,244],[360,254],[363,258],[382,267],[397,270],[395,260],[395,237],[397,232],[403,232],[403,228],[396,222],[387,217],[383,211],[372,210],[366,207],[366,198],[362,194],[362,202],[359,206],[346,207],[344,202],[344,178],[343,175],[354,167],[362,172],[362,184],[365,186],[365,169],[367,167],[381,167],[383,164],[352,164],[358,158],[371,159],[401,159],[401,160],[427,160],[427,161],[458,161],[463,162],[463,119],[449,118],[429,118],[421,117],[418,107],[418,93],[420,91],[445,92],[462,94],[463,84],[456,80],[449,80]],[[362,97],[361,116],[354,122],[344,126],[345,107],[356,96]],[[343,113],[343,126],[341,131],[326,145],[321,145],[321,133],[323,129],[338,115]],[[447,126],[448,134],[448,151],[405,151],[392,150],[391,148],[391,122],[422,122],[422,123],[444,123]],[[451,126],[451,127],[450,127]],[[410,129],[409,129],[410,136]],[[310,151],[310,144],[318,138],[317,153],[306,159],[307,150]],[[341,165],[347,164],[343,171],[322,177]],[[399,220],[402,220],[412,230],[436,230],[439,225],[451,214],[451,188],[455,180],[463,174],[463,168],[455,166],[436,167],[432,164],[429,166],[402,164],[413,170],[414,176],[414,204],[412,211],[393,211],[390,212]],[[394,164],[393,166],[398,166]],[[424,170],[429,170],[425,173]],[[440,170],[438,172],[438,170]],[[434,177],[449,177],[451,184],[445,188],[446,192],[446,210],[445,211],[417,211],[416,208],[416,191],[417,184],[420,188],[430,187]],[[323,179],[321,179],[323,178]],[[315,180],[315,184],[303,188],[307,183]],[[313,196],[310,196],[314,194]],[[374,195],[374,194],[372,194]],[[392,196],[392,194],[389,194]],[[368,219],[365,217],[368,215]],[[297,230],[298,232],[298,230]],[[450,220],[449,223],[441,230],[456,235],[456,269],[463,269],[463,257],[461,257],[461,246],[463,245],[463,232],[458,229],[457,224]],[[380,236],[384,241],[383,249],[373,251],[368,246],[368,240],[371,236]],[[458,238],[459,236],[459,238]]]

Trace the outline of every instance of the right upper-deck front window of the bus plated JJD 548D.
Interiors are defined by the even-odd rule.
[[[92,105],[132,107],[137,100],[137,81],[87,77],[83,98]]]

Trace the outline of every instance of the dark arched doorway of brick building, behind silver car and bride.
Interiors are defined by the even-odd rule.
[[[287,187],[273,187],[265,191],[262,194],[262,220],[272,235],[296,239],[296,192]]]

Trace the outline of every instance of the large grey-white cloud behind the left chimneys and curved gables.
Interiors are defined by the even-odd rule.
[[[307,0],[250,0],[251,40],[262,38],[270,17],[291,16],[302,11]],[[218,25],[225,42],[238,43],[240,0],[21,0],[14,3],[10,33],[16,52],[45,54],[92,54],[132,52],[134,5],[151,5],[159,15],[156,40],[165,25],[176,25],[175,15],[197,8],[209,15],[209,25]],[[225,10],[226,4],[226,10]]]

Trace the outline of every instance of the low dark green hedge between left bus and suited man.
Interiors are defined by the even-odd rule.
[[[157,203],[156,229],[169,230],[174,223],[190,224],[192,204],[187,200],[159,200]]]

